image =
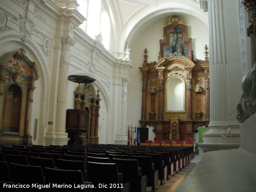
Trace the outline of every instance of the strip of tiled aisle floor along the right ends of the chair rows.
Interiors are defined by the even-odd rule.
[[[199,156],[195,156],[195,158],[183,169],[181,169],[181,171],[175,173],[172,177],[169,176],[170,180],[163,181],[164,185],[161,186],[159,182],[158,186],[156,186],[156,192],[173,192],[185,179],[188,173],[194,168],[194,166],[196,166],[198,160]],[[146,192],[150,192],[151,190],[151,187],[147,187]]]

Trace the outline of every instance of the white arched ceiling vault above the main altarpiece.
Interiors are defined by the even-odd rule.
[[[199,0],[108,0],[115,20],[117,52],[124,52],[126,41],[139,28],[153,23],[157,18],[172,14],[188,14],[208,25],[208,15],[200,8]],[[145,25],[145,26],[144,26]]]

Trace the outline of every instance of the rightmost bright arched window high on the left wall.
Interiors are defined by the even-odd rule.
[[[100,32],[102,36],[102,44],[106,49],[109,49],[110,39],[110,20],[107,12],[102,12],[100,17]]]

